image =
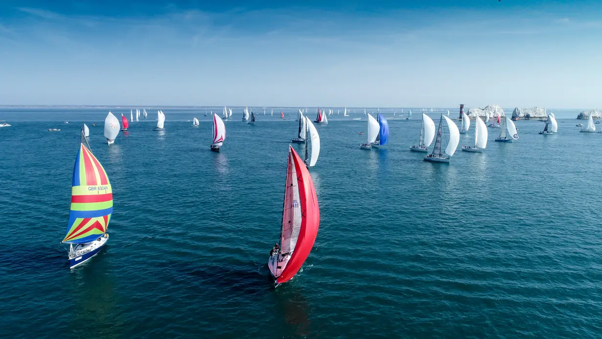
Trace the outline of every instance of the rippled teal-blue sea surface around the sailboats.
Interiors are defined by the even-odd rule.
[[[363,110],[335,110],[310,170],[320,231],[276,289],[267,259],[297,109],[270,110],[255,125],[233,110],[216,153],[204,108],[163,108],[163,132],[149,109],[111,146],[108,108],[0,109],[12,125],[0,128],[0,337],[602,336],[602,134],[579,132],[579,110],[554,111],[556,135],[521,120],[519,140],[495,143],[489,128],[482,154],[459,150],[471,126],[450,164],[409,151],[418,110],[383,110],[389,145],[373,151],[359,149]],[[114,213],[107,246],[70,270],[61,240],[83,122]]]

